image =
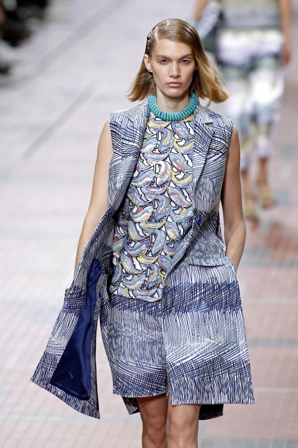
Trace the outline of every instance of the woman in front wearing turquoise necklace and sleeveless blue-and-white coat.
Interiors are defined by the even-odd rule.
[[[193,26],[150,31],[129,94],[143,101],[103,127],[75,276],[31,378],[100,418],[99,319],[113,393],[140,412],[146,448],[197,447],[200,419],[255,402],[237,280],[239,138],[199,101],[227,97]]]

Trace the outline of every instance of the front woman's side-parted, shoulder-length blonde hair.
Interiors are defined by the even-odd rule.
[[[212,101],[222,103],[230,96],[221,73],[206,56],[201,39],[193,26],[184,20],[174,18],[159,22],[147,36],[145,54],[149,58],[152,57],[152,51],[158,39],[183,42],[193,49],[197,69],[193,72],[189,96],[194,92],[202,99],[209,99],[206,107],[209,107]],[[156,95],[153,73],[148,72],[144,60],[142,60],[139,72],[128,90],[129,94],[126,96],[130,101],[142,100],[148,95]]]

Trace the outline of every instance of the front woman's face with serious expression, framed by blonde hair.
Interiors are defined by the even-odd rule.
[[[189,92],[196,61],[192,48],[186,43],[160,39],[151,59],[144,55],[144,64],[153,73],[156,91],[160,90],[168,97],[179,97]]]

